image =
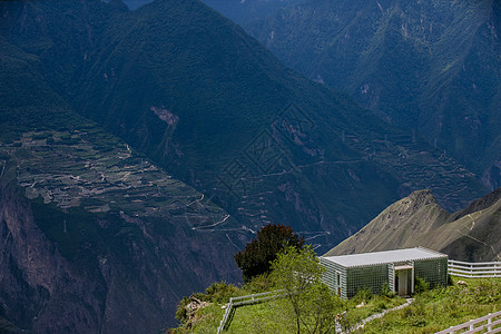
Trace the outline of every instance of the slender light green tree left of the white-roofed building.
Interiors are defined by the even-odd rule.
[[[277,302],[271,305],[279,306],[274,314],[282,315],[287,332],[335,333],[335,314],[343,308],[343,302],[322,283],[324,271],[310,246],[286,247],[273,262],[269,278]]]

